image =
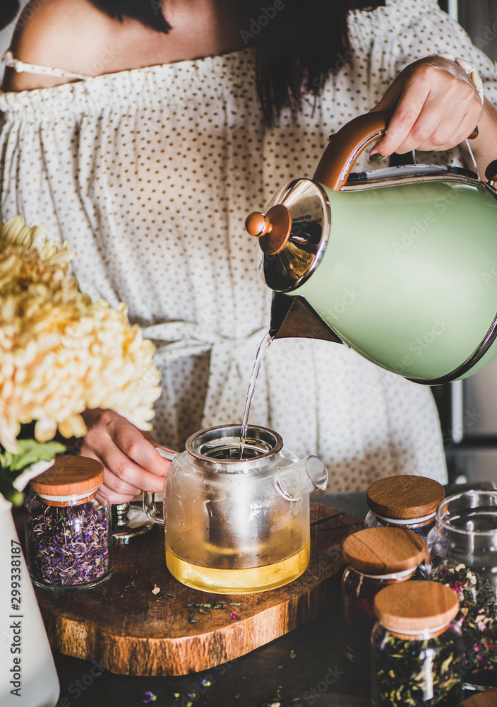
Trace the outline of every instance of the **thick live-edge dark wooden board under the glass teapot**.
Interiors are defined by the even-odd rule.
[[[166,567],[164,532],[156,527],[141,542],[114,546],[114,573],[100,587],[36,589],[50,644],[128,675],[184,675],[234,660],[339,600],[342,543],[363,527],[353,515],[311,503],[306,572],[280,589],[248,595],[199,592],[176,581]],[[153,583],[172,596],[158,598]]]

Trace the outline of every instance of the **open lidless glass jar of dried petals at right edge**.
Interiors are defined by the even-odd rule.
[[[497,491],[440,504],[427,539],[431,578],[452,588],[465,645],[465,686],[497,686]]]

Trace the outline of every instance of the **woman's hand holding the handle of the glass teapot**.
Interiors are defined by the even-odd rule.
[[[111,410],[83,413],[88,433],[80,455],[104,466],[102,489],[110,503],[133,501],[142,491],[162,491],[171,462],[160,456],[152,435],[142,432]]]

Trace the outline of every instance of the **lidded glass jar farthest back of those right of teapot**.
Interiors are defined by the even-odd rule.
[[[404,527],[424,539],[435,525],[436,508],[445,496],[443,486],[426,477],[403,474],[373,481],[366,491],[371,510],[364,525]]]

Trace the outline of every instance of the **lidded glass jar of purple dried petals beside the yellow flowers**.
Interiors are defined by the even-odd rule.
[[[50,590],[85,590],[112,573],[110,506],[102,464],[56,457],[31,481],[25,505],[26,560],[32,582]]]

